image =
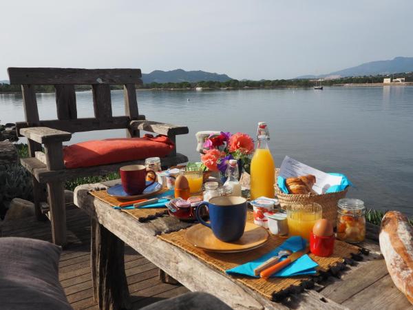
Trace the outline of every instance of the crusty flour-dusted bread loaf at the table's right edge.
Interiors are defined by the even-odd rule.
[[[413,304],[413,228],[399,211],[381,220],[380,250],[394,285]]]

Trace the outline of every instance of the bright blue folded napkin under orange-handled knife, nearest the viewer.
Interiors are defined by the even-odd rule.
[[[277,256],[278,252],[282,249],[290,250],[292,252],[301,251],[307,245],[307,241],[300,236],[293,236],[288,238],[282,245],[277,247],[277,249],[273,249],[273,251],[268,252],[264,256],[261,256],[257,260],[253,260],[252,262],[247,262],[244,265],[240,265],[234,267],[232,269],[226,270],[228,274],[242,274],[245,276],[251,276],[253,278],[260,278],[260,276],[254,276],[254,269],[260,266],[266,260],[272,258],[273,256]],[[286,258],[282,258],[281,260],[285,260]],[[281,261],[280,260],[280,261]],[[273,274],[272,277],[290,277],[290,276],[301,276],[301,275],[309,275],[315,274],[317,271],[315,267],[317,267],[317,262],[314,262],[307,254],[301,256],[294,262],[292,262],[287,267],[281,269],[277,273]]]

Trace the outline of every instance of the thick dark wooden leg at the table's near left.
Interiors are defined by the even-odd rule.
[[[125,275],[125,243],[98,220],[91,223],[91,262],[94,300],[99,309],[130,309]]]

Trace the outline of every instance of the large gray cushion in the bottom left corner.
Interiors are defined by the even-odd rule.
[[[0,309],[72,309],[59,282],[61,247],[0,238]]]

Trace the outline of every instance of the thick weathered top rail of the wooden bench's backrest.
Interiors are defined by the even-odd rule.
[[[140,84],[140,69],[8,68],[10,84]]]

